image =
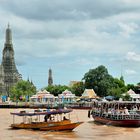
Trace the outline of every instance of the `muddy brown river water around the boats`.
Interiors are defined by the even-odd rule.
[[[21,109],[0,109],[0,140],[140,140],[140,128],[124,128],[97,125],[88,118],[87,110],[74,110],[73,121],[84,121],[72,132],[47,132],[33,130],[12,130],[13,122],[10,112]],[[17,121],[21,119],[16,117]]]

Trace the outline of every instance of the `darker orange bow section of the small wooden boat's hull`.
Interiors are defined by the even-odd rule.
[[[76,123],[69,123],[69,124],[62,124],[62,125],[52,125],[44,128],[40,128],[42,131],[72,131],[77,126],[82,124],[83,122],[76,122]]]

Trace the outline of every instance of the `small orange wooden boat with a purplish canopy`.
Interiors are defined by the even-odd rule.
[[[43,130],[43,128],[45,130],[46,128],[47,131],[73,130],[83,122],[73,123],[70,120],[70,112],[72,112],[72,109],[11,112],[11,115],[13,115],[13,123],[11,124],[11,128],[34,130]],[[66,119],[65,117],[67,113],[69,114],[69,119]],[[21,123],[15,123],[15,116],[23,117],[23,121]],[[41,120],[41,116],[44,116],[44,121]],[[58,127],[62,129],[58,129]]]

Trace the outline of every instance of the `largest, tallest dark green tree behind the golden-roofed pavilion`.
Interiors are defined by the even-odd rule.
[[[83,80],[85,88],[94,89],[98,96],[106,96],[108,90],[113,87],[113,77],[103,65],[90,69],[85,73]]]

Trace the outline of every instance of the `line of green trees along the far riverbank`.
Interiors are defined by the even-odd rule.
[[[140,85],[140,83],[138,83],[138,85]],[[126,85],[123,76],[114,78],[108,73],[105,66],[100,65],[86,72],[81,82],[77,82],[71,87],[66,85],[52,85],[46,86],[43,89],[46,89],[55,96],[58,96],[58,94],[61,94],[66,89],[72,91],[76,96],[81,96],[84,89],[94,89],[100,97],[112,95],[116,98],[120,98],[122,94],[126,93],[129,89],[137,91],[138,87],[134,84]],[[10,91],[12,100],[20,100],[21,96],[32,96],[36,94],[36,87],[32,82],[21,80],[13,86]],[[128,98],[128,95],[126,95],[126,99]]]

